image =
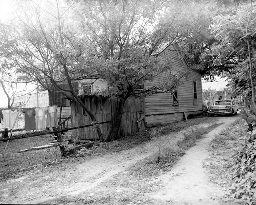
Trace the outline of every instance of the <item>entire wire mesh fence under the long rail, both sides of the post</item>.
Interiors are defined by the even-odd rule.
[[[108,130],[109,126],[110,123],[100,125],[101,130]],[[35,134],[38,136],[33,136]],[[95,126],[76,128],[62,133],[67,151],[94,141],[95,136],[97,136]],[[0,169],[2,171],[55,162],[61,158],[57,137],[54,134],[19,131],[12,134],[10,141],[3,137],[0,138]]]

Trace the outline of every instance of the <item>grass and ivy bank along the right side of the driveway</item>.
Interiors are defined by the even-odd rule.
[[[237,119],[230,127],[221,130],[210,142],[211,157],[204,162],[210,181],[225,187],[226,192],[221,200],[227,204],[253,204],[251,184],[246,184],[251,182],[251,175],[248,174],[249,177],[246,180],[247,175],[240,173],[240,170],[242,173],[248,172],[248,167],[254,166],[253,163],[250,166],[241,163],[242,160],[247,162],[244,157],[241,157],[246,150],[242,149],[245,139],[249,136],[246,130],[247,124],[241,119]],[[244,155],[249,156],[247,153]],[[248,158],[253,159],[251,156]],[[241,178],[236,174],[241,175]]]

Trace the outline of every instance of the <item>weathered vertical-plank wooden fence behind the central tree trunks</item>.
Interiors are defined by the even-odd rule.
[[[95,115],[98,122],[111,121],[113,123],[117,100],[110,100],[102,96],[86,96],[83,98],[83,102]],[[144,98],[128,98],[126,100],[120,125],[120,135],[145,130],[144,103]],[[72,127],[87,125],[92,122],[90,116],[74,101],[71,102],[71,116]],[[104,137],[108,133],[111,123],[99,125]],[[79,139],[98,139],[94,127],[76,129],[73,131],[73,135]]]

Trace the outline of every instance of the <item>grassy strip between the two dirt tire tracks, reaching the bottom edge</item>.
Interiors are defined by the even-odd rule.
[[[202,138],[203,134],[216,126],[217,123],[214,122],[206,128],[199,127],[186,131],[182,141],[176,145],[173,145],[166,136],[162,136],[161,130],[151,129],[150,145],[157,147],[157,151],[129,167],[125,172],[103,181],[92,191],[95,194],[92,204],[161,204],[161,201],[156,201],[148,195],[162,186],[162,182],[154,178],[171,170],[178,159],[185,154],[185,150],[195,145],[197,139]]]

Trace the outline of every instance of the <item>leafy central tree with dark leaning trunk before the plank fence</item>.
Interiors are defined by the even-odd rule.
[[[187,74],[186,71],[182,75],[171,72],[171,62],[154,56],[169,30],[170,23],[161,21],[164,6],[164,1],[144,0],[79,1],[75,5],[95,50],[91,56],[94,58],[87,64],[98,78],[109,83],[110,89],[105,95],[118,99],[116,118],[105,141],[117,139],[124,103],[130,96],[173,92]],[[175,36],[170,42],[174,40]],[[163,72],[165,80],[145,85]]]

